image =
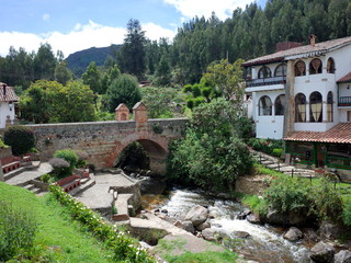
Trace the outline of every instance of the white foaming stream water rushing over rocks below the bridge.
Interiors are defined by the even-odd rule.
[[[262,263],[308,263],[308,250],[303,244],[292,243],[283,239],[282,230],[270,226],[259,226],[247,220],[238,220],[236,216],[244,207],[238,202],[224,201],[199,190],[173,187],[165,194],[165,182],[144,180],[141,183],[143,206],[145,209],[167,209],[168,216],[182,219],[194,205],[208,208],[214,219],[212,228],[231,236],[234,231],[250,235],[246,239],[235,241],[235,251],[246,260]]]

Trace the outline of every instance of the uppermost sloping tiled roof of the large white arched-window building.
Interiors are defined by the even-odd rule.
[[[272,61],[280,61],[285,59],[286,57],[290,56],[296,56],[296,55],[308,55],[312,54],[313,56],[316,55],[322,55],[330,49],[336,49],[343,47],[346,45],[351,44],[351,36],[343,37],[343,38],[338,38],[338,39],[332,39],[332,41],[327,41],[327,42],[320,42],[316,43],[315,46],[312,45],[305,45],[305,46],[299,46],[278,53],[273,53],[263,57],[258,57],[250,59],[246,62],[242,64],[242,66],[251,66],[251,65],[260,65],[260,64],[267,64],[267,62],[272,62]]]

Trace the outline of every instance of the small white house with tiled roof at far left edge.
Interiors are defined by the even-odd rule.
[[[15,117],[14,103],[18,101],[19,98],[13,88],[0,82],[0,128],[13,123]]]

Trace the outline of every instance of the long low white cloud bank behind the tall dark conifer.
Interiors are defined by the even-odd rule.
[[[173,38],[176,31],[163,28],[154,23],[141,24],[146,36],[150,39],[160,37]],[[76,24],[67,34],[49,32],[42,35],[21,32],[0,32],[0,56],[9,53],[10,46],[15,49],[24,47],[26,52],[37,50],[41,43],[49,43],[56,53],[61,50],[67,57],[69,54],[90,47],[104,47],[111,44],[122,44],[125,37],[124,27],[112,27],[89,21],[88,24]],[[5,39],[5,41],[3,41]]]

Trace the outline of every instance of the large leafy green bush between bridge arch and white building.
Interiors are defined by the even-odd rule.
[[[215,100],[200,105],[185,138],[170,146],[168,175],[216,191],[230,188],[252,165],[247,147],[236,134],[236,114],[229,102]]]

